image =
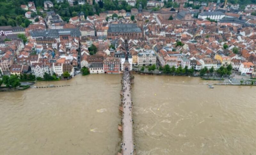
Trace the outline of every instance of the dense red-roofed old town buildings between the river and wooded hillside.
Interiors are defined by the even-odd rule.
[[[0,70],[31,72],[36,77],[43,77],[45,72],[61,76],[68,71],[73,76],[81,67],[89,68],[91,74],[118,74],[124,66],[132,70],[134,65],[158,63],[195,70],[231,65],[242,75],[256,73],[256,16],[239,11],[236,5],[223,9],[220,4],[209,3],[195,10],[184,8],[185,1],[177,2],[179,8],[156,12],[141,5],[131,12],[106,11],[86,18],[79,12],[69,22],[49,11],[26,29],[0,27]],[[148,1],[148,6],[162,7],[162,3]],[[45,10],[52,7],[51,1],[44,4]],[[34,7],[33,2],[21,6],[30,11]],[[112,18],[114,13],[119,18]],[[24,45],[17,34],[25,34],[28,42]],[[97,52],[90,51],[92,45]]]

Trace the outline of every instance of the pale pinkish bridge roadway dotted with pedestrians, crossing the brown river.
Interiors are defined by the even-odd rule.
[[[129,71],[123,74],[123,143],[122,154],[134,155],[133,144],[133,119],[132,119],[132,94],[131,94],[131,81]]]

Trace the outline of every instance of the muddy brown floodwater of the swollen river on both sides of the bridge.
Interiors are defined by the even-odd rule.
[[[120,151],[122,75],[78,75],[70,85],[0,93],[0,154],[114,155]],[[255,154],[256,87],[192,77],[135,75],[138,155]]]

